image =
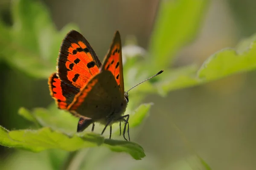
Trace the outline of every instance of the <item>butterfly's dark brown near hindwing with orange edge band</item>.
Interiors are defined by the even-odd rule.
[[[118,85],[110,71],[97,74],[88,82],[69,107],[94,121],[106,120],[117,113],[122,105]]]

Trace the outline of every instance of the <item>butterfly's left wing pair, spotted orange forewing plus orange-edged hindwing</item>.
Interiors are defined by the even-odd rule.
[[[99,73],[101,62],[89,42],[77,31],[70,31],[62,41],[57,74],[49,77],[49,89],[58,108],[67,109],[76,94]]]

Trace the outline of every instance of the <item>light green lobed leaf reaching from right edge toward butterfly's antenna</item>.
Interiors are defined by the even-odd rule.
[[[227,48],[210,56],[198,68],[189,65],[166,70],[155,84],[160,94],[169,91],[200,85],[216,79],[244,71],[256,69],[256,34],[242,40],[236,49]]]

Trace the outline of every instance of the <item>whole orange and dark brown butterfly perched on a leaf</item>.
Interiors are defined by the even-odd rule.
[[[121,122],[125,122],[123,137],[127,140],[125,130],[128,126],[130,140],[129,115],[124,115],[129,99],[124,89],[119,31],[114,35],[103,64],[89,42],[75,30],[64,38],[57,61],[57,72],[48,81],[50,94],[59,109],[79,117],[77,132],[91,124],[93,131],[94,123],[99,122],[105,125],[102,134],[110,126],[111,139],[111,125],[119,122],[121,135]]]

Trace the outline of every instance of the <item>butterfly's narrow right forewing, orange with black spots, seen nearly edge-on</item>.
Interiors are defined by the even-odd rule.
[[[100,71],[110,71],[116,79],[121,99],[124,98],[125,87],[122,65],[122,46],[119,31],[116,31],[111,47],[106,55]]]

